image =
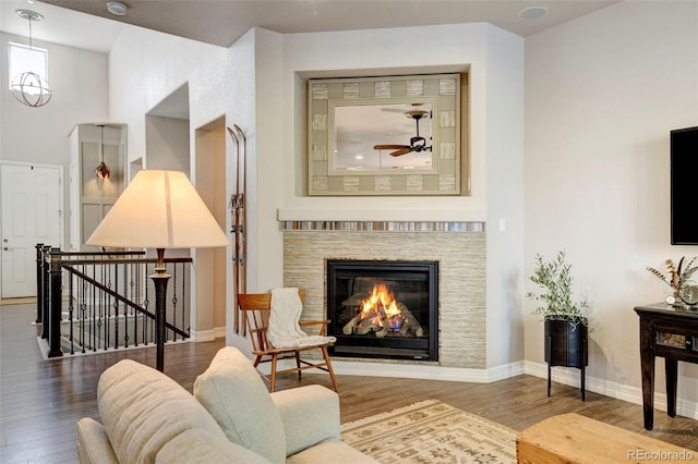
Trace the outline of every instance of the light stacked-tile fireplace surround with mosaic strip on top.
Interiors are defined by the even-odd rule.
[[[303,319],[327,317],[326,259],[436,260],[437,364],[486,367],[484,223],[281,221],[280,228],[284,284],[306,289]]]

